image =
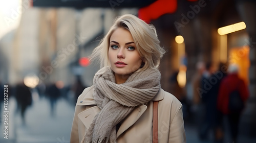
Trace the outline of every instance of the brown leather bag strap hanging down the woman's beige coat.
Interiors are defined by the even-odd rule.
[[[153,101],[153,143],[158,143],[158,101]]]

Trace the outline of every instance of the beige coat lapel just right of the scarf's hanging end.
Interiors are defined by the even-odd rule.
[[[121,124],[119,130],[117,131],[116,137],[121,135],[125,130],[129,129],[139,118],[140,116],[145,112],[147,106],[146,105],[140,105],[136,107],[131,114],[129,114],[127,117],[125,117],[123,123]]]

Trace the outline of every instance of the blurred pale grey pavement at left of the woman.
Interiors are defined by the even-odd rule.
[[[70,140],[75,106],[61,98],[56,103],[56,115],[51,116],[50,103],[46,98],[33,100],[26,111],[26,125],[22,125],[20,114],[16,113],[16,101],[9,99],[9,135],[0,142],[6,143],[67,143]],[[3,112],[3,111],[2,111]],[[3,121],[3,118],[2,118]],[[1,132],[3,132],[1,123]]]

